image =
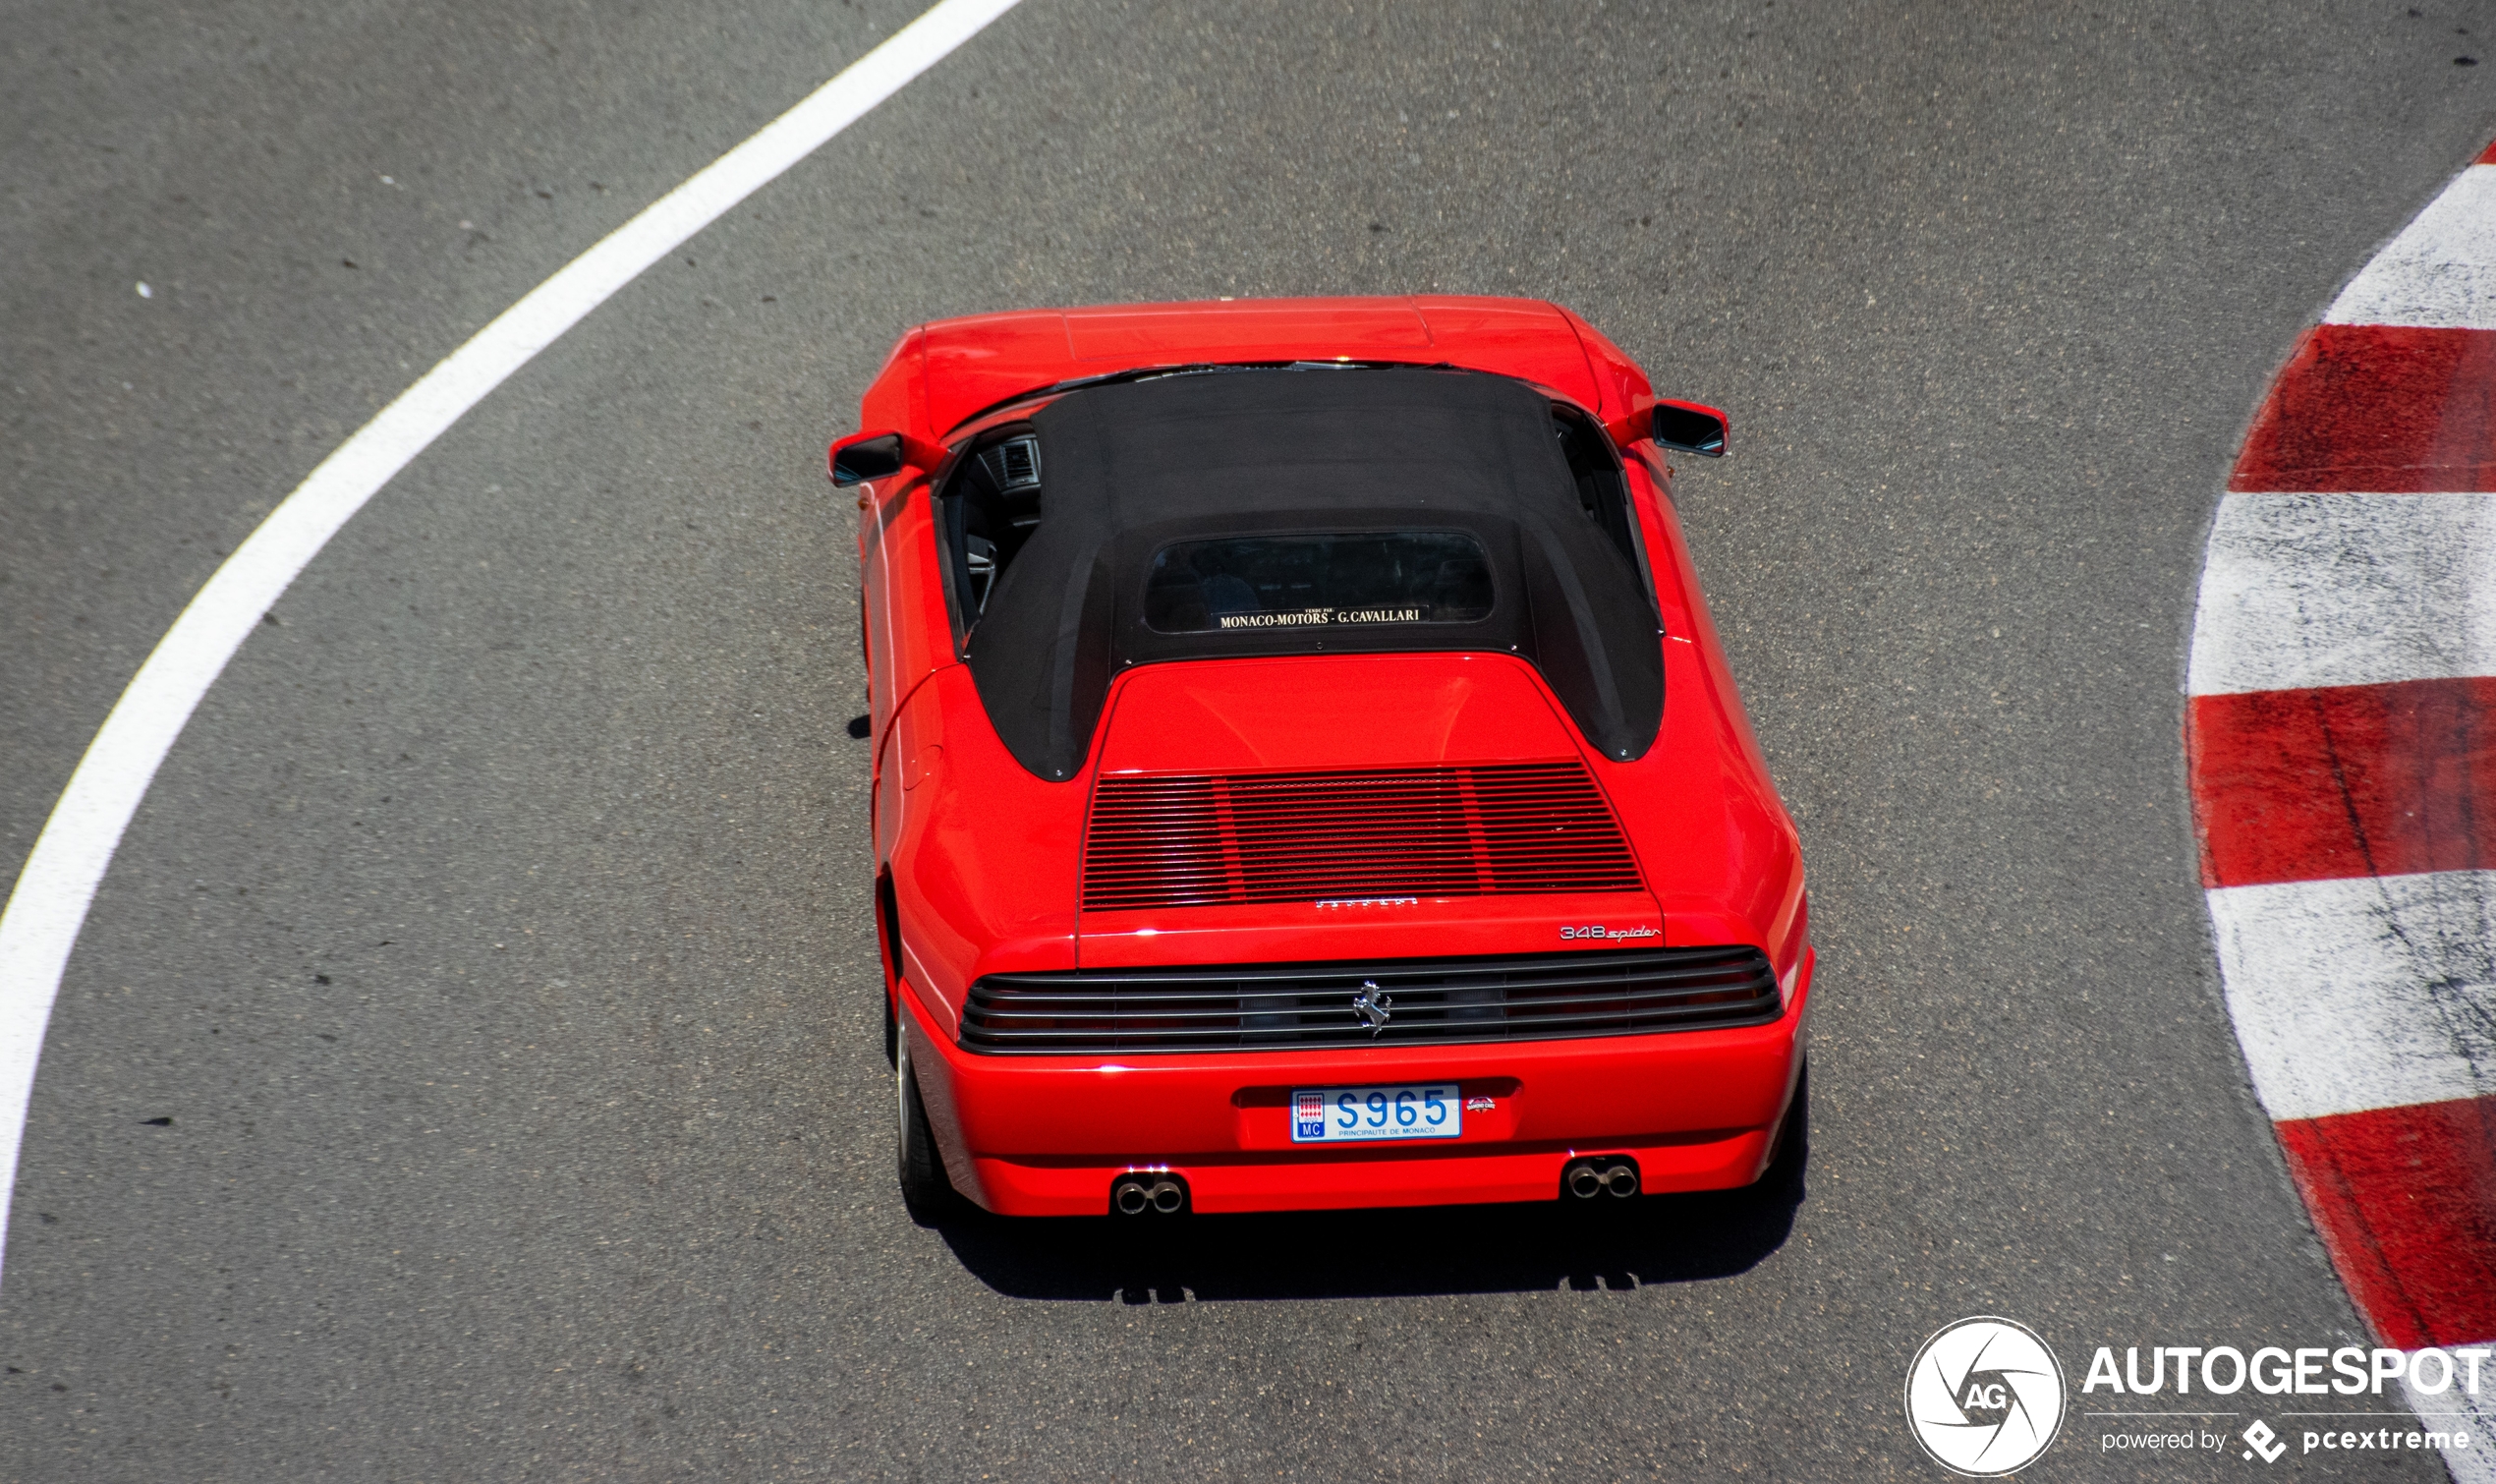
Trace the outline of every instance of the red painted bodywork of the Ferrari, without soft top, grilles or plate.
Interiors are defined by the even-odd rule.
[[[1116,1174],[1183,1172],[1198,1212],[1553,1199],[1580,1154],[1632,1154],[1650,1192],[1760,1177],[1807,1047],[1812,952],[1800,842],[1725,665],[1662,452],[1637,437],[1647,377],[1575,315],[1520,300],[1273,300],[1033,310],[911,330],[861,405],[916,445],[1058,382],[1148,365],[1380,360],[1510,375],[1577,402],[1620,445],[1667,637],[1665,712],[1635,762],[1590,749],[1510,655],[1325,655],[1143,665],[1121,675],[1078,777],[998,740],[956,652],[929,482],[861,485],[874,839],[889,884],[886,992],[953,1187],[1003,1214],[1103,1214]],[[1288,697],[1278,707],[1278,697]],[[1577,759],[1642,892],[1083,912],[1103,774]],[[1770,1024],[1555,1042],[1350,1049],[981,1054],[973,982],[1003,972],[1338,962],[1565,949],[1562,927],[1655,927],[1662,944],[1765,949]],[[1295,1147],[1295,1087],[1455,1079],[1460,1139]]]

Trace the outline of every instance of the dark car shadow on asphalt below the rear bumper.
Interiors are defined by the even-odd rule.
[[[1750,1189],[1518,1207],[1021,1222],[966,1209],[938,1232],[1013,1299],[1627,1292],[1765,1262],[1795,1229],[1805,1172],[1797,1152]]]

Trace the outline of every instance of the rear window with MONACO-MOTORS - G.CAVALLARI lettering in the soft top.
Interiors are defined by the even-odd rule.
[[[1163,635],[1490,617],[1490,560],[1460,530],[1260,535],[1153,552],[1143,622]]]

